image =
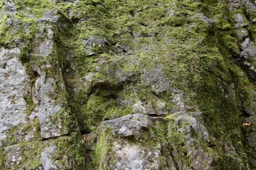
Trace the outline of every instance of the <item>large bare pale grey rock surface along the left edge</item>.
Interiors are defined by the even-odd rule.
[[[30,89],[29,77],[18,59],[19,54],[19,48],[0,48],[0,146],[8,130],[26,123],[23,96]]]

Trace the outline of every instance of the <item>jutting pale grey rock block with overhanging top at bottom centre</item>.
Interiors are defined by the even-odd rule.
[[[110,128],[113,136],[112,162],[109,156],[103,162],[107,169],[116,170],[154,170],[160,167],[161,144],[156,135],[149,130],[154,128],[149,116],[142,114],[127,115],[121,118],[105,121],[101,129]],[[132,140],[132,143],[129,142]],[[154,142],[149,145],[148,142]],[[143,147],[143,146],[147,147]],[[166,170],[175,170],[166,165]]]

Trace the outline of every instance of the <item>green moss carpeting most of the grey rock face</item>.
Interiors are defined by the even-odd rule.
[[[0,6],[1,4],[3,1],[0,1]],[[141,74],[161,65],[163,76],[171,87],[191,94],[190,99],[186,100],[186,105],[195,105],[195,108],[203,112],[210,134],[217,138],[219,143],[232,141],[238,152],[237,157],[245,164],[247,156],[239,150],[241,146],[236,145],[241,141],[241,137],[234,135],[234,131],[240,130],[239,115],[243,108],[242,104],[250,105],[248,96],[255,87],[248,81],[246,73],[237,64],[231,63],[232,55],[238,52],[238,46],[231,33],[232,30],[229,31],[233,25],[231,23],[233,14],[238,12],[242,14],[243,11],[230,13],[226,2],[217,0],[205,2],[199,0],[168,2],[163,0],[79,0],[75,6],[67,3],[53,4],[47,0],[23,0],[22,3],[15,0],[15,5],[16,9],[20,10],[15,16],[22,21],[20,27],[23,30],[18,31],[20,34],[15,36],[26,42],[26,45],[21,47],[20,60],[26,66],[26,73],[30,76],[31,83],[34,84],[37,78],[32,65],[38,67],[52,65],[41,71],[46,73],[46,79],[55,79],[53,85],[55,92],[49,94],[49,97],[55,99],[55,104],[62,108],[52,118],[53,123],[61,124],[63,128],[68,128],[72,132],[78,130],[76,126],[78,121],[80,129],[86,132],[91,125],[99,125],[102,121],[111,119],[115,113],[117,117],[134,113],[132,105],[136,100],[152,105],[153,109],[157,108],[157,102],[164,102],[166,110],[171,113],[175,105],[172,102],[172,94],[169,92],[155,94],[154,89],[140,82]],[[59,20],[57,26],[51,25],[55,33],[51,53],[43,57],[29,55],[29,51],[33,49],[35,34],[39,30],[35,17],[41,18],[43,12],[55,8],[58,9],[56,15]],[[29,13],[35,17],[29,17]],[[202,21],[202,14],[198,13],[213,19],[216,27],[210,27],[208,23]],[[250,17],[253,17],[253,11],[250,13]],[[8,16],[0,18],[0,36],[3,37],[0,44],[6,45],[13,39],[13,35],[9,32],[10,27],[6,26]],[[25,34],[25,26],[29,26],[29,34]],[[249,28],[250,37],[253,39],[255,28],[253,26]],[[140,33],[140,37],[133,37],[133,33]],[[106,42],[104,48],[93,45],[91,51],[94,54],[87,56],[86,47],[81,40],[86,40],[88,36],[99,37],[102,40],[106,38],[110,43]],[[123,45],[124,49],[119,51],[115,45]],[[126,50],[129,51],[128,55]],[[68,84],[68,80],[65,80],[67,77],[76,79],[75,76],[70,76],[73,74],[73,68],[76,67],[75,74],[78,74],[82,81],[84,76],[94,74],[93,82],[83,85],[84,89],[78,90],[77,97],[70,90],[73,89],[73,82],[70,81]],[[137,81],[120,82],[119,77],[116,76],[117,70],[122,70],[123,75],[128,71],[132,72]],[[65,88],[61,86],[64,82],[67,85]],[[235,86],[234,101],[225,97],[230,84]],[[26,112],[29,114],[34,106],[30,103],[31,96],[25,96],[25,98],[28,104]],[[129,105],[120,104],[121,100],[129,101],[130,99]],[[191,111],[198,111],[197,109],[192,108]],[[179,158],[183,160],[183,164],[187,168],[192,168],[190,158],[187,156],[189,154],[186,155],[188,150],[184,145],[184,136],[173,126],[173,119],[167,122],[169,123],[165,123],[163,127],[159,125],[159,128],[164,128],[160,130],[159,139],[165,142],[171,141],[169,145],[172,149],[176,147],[181,151]],[[38,136],[35,138],[40,139],[39,123],[35,122],[34,125],[36,126],[34,135]],[[24,129],[29,127],[27,125]],[[99,163],[99,168],[102,169],[104,167],[102,167],[101,158],[111,152],[112,147],[107,139],[104,139],[108,135],[108,130],[104,132],[106,134],[99,135],[103,142],[97,146],[93,163],[94,167]],[[198,136],[196,133],[194,135]],[[15,138],[11,134],[9,143],[14,141]],[[74,137],[71,141],[79,143],[81,139]],[[104,142],[107,146],[104,146]],[[64,144],[65,148],[69,144],[72,145],[66,138],[56,140],[56,144],[58,143]],[[246,146],[246,143],[243,142],[243,144]],[[80,145],[77,147],[81,149]],[[227,164],[231,169],[232,166],[238,167],[239,161],[225,155],[220,145],[217,144],[212,150],[207,146],[204,147],[207,152],[218,153],[220,161],[216,165],[217,168],[221,168],[221,164]],[[62,162],[65,168],[68,167],[68,161],[61,160],[61,156],[65,154],[70,157],[79,155],[76,162],[82,164],[83,154],[79,150],[58,152],[60,154],[56,155],[56,160]],[[80,167],[79,165],[78,169]]]

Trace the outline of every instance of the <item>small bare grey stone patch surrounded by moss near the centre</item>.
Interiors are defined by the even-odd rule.
[[[170,88],[169,83],[162,74],[161,67],[145,72],[141,80],[146,85],[151,86],[156,93],[167,91]]]

